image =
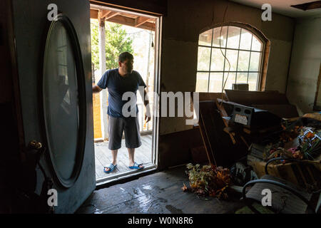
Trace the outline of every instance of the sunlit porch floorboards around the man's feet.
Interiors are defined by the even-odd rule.
[[[135,161],[138,164],[143,163],[144,166],[151,165],[152,157],[152,135],[141,135],[141,147],[135,150]],[[105,173],[103,167],[111,164],[111,150],[108,149],[108,142],[95,143],[95,165],[96,165],[96,181],[102,178],[127,172],[128,168],[128,150],[125,146],[125,140],[121,140],[121,149],[118,150],[117,167],[114,172]]]

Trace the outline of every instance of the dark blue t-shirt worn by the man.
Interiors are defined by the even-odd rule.
[[[130,98],[128,98],[128,100],[122,100],[123,93],[131,91],[137,95],[138,86],[146,88],[143,78],[141,78],[141,75],[137,71],[132,71],[128,76],[123,77],[118,73],[118,68],[103,73],[97,86],[100,88],[108,88],[107,114],[112,117],[123,117],[123,105],[130,100]],[[138,113],[137,105],[136,113]]]

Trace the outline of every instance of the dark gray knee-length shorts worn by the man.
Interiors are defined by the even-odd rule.
[[[137,117],[112,117],[108,115],[108,149],[118,150],[121,148],[121,138],[125,133],[127,148],[141,146],[141,133]]]

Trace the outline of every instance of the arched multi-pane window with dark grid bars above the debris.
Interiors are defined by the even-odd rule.
[[[233,83],[260,90],[267,39],[244,27],[234,23],[200,33],[196,92],[221,93]]]

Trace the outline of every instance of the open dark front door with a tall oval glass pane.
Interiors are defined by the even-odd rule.
[[[40,164],[57,193],[54,211],[73,213],[96,187],[90,6],[52,2],[12,1],[21,114],[24,141],[45,148]]]

